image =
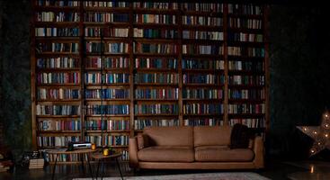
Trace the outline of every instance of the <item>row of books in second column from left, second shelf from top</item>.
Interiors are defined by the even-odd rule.
[[[86,12],[84,20],[86,23],[128,23],[129,14]]]

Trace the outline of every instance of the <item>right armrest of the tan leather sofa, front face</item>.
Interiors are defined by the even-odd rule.
[[[264,167],[264,149],[263,149],[263,138],[260,136],[254,139],[254,165],[257,168]]]

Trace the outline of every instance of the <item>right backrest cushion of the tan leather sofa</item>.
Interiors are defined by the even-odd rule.
[[[196,126],[193,128],[194,147],[227,146],[231,129],[230,126]]]

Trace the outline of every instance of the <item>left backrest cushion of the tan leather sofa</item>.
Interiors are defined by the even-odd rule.
[[[189,146],[193,147],[192,127],[146,127],[143,130],[149,138],[150,146]]]

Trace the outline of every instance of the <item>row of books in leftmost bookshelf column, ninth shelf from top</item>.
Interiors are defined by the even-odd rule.
[[[72,120],[41,120],[39,130],[81,130],[79,119]]]

